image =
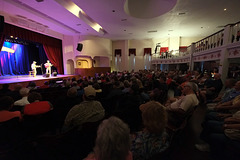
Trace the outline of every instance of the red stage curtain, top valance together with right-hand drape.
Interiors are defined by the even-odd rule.
[[[54,67],[57,68],[58,73],[63,74],[62,40],[20,28],[8,23],[4,24],[3,35],[19,37],[26,41],[43,44],[48,59],[54,65]],[[2,36],[0,38],[2,39]]]

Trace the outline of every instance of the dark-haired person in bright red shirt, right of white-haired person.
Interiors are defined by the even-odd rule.
[[[52,104],[48,101],[41,101],[42,96],[40,93],[32,92],[28,96],[30,104],[25,105],[23,109],[24,115],[39,115],[44,114],[53,109]]]

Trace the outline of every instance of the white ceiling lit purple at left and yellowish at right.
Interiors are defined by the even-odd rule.
[[[107,32],[101,35],[84,21],[70,13],[54,0],[0,0],[0,14],[21,15],[34,20],[49,29],[66,35],[95,35],[112,40],[150,39],[166,37],[204,37],[229,23],[240,21],[240,0],[158,0],[159,9],[164,5],[169,8],[166,13],[155,18],[135,18],[124,11],[125,0],[72,0],[95,22]],[[130,0],[128,0],[130,1]],[[142,3],[133,0],[136,7]],[[143,0],[141,0],[143,1]],[[153,3],[156,0],[148,0]],[[163,5],[159,4],[162,1]],[[165,1],[165,2],[164,2]],[[169,1],[172,7],[167,5]],[[141,6],[140,6],[141,5]],[[156,6],[156,5],[155,5]],[[224,8],[227,10],[224,11]],[[115,10],[115,12],[112,12]],[[156,7],[142,10],[146,15],[155,14]],[[178,15],[179,13],[186,13]],[[136,13],[136,11],[134,12]],[[122,21],[126,19],[125,21]],[[157,31],[148,33],[148,31]]]

